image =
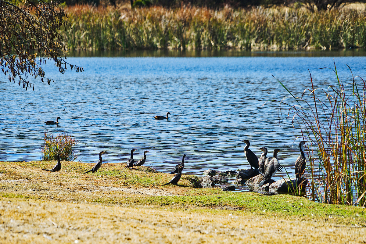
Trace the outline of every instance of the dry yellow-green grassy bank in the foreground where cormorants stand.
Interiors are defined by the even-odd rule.
[[[360,243],[366,230],[361,207],[197,189],[193,176],[162,186],[171,175],[124,164],[40,169],[54,164],[0,162],[1,243]]]

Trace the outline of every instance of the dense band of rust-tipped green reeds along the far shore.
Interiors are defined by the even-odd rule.
[[[66,9],[70,49],[366,48],[364,10],[162,7]]]

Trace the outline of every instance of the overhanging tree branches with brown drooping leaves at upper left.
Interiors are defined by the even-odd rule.
[[[27,78],[41,77],[48,85],[53,79],[45,77],[41,65],[46,59],[54,61],[61,74],[67,66],[76,72],[82,67],[67,63],[61,50],[66,50],[59,32],[67,22],[63,7],[57,2],[28,2],[26,7],[19,7],[10,2],[0,0],[0,67],[10,82],[17,81],[23,88],[34,84]],[[37,56],[40,58],[37,60]]]

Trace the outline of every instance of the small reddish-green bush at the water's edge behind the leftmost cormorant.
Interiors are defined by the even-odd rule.
[[[57,136],[48,135],[44,132],[45,145],[41,149],[42,160],[56,160],[57,154],[61,153],[61,160],[75,161],[78,154],[74,147],[79,143],[78,140],[71,137],[71,135],[57,134]]]

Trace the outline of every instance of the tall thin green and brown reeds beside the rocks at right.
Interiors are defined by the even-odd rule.
[[[337,85],[315,89],[310,74],[311,89],[301,97],[280,82],[291,95],[281,105],[289,106],[288,115],[302,132],[299,137],[311,141],[307,152],[311,200],[365,206],[366,85],[358,76],[356,82],[353,74],[352,83],[345,85],[336,65],[333,71]]]

